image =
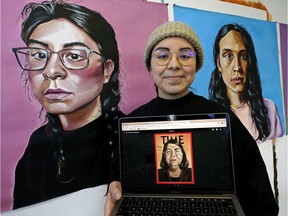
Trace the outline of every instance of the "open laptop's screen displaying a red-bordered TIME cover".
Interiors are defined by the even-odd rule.
[[[233,193],[228,114],[125,117],[119,124],[124,191]]]

